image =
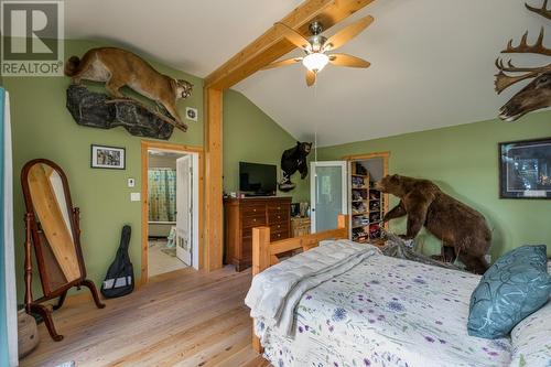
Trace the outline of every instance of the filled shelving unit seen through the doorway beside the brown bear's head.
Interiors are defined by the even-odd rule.
[[[385,196],[375,190],[369,171],[357,161],[350,162],[352,240],[368,242],[380,238],[385,215]]]

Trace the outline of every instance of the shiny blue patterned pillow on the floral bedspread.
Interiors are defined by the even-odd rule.
[[[499,258],[471,295],[468,335],[495,339],[543,306],[551,292],[545,245],[522,246]]]

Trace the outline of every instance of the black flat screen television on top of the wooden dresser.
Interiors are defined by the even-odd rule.
[[[245,196],[273,196],[277,185],[276,165],[239,162],[239,191]]]

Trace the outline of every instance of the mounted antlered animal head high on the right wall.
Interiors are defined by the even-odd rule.
[[[548,20],[551,20],[551,10],[548,9],[548,0],[543,1],[541,8],[525,4],[526,8]],[[504,54],[538,54],[551,56],[551,48],[543,45],[543,28],[533,44],[528,44],[528,32],[522,35],[518,46],[512,45],[512,40],[507,44]],[[551,106],[551,64],[540,67],[517,67],[509,60],[507,63],[500,57],[496,60],[498,74],[496,75],[496,91],[500,94],[514,84],[521,80],[533,79],[499,109],[499,118],[512,122],[528,112]],[[507,74],[509,73],[509,74]],[[510,75],[510,74],[514,75]]]

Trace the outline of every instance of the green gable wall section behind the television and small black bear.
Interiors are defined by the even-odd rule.
[[[293,148],[296,140],[276,123],[247,97],[235,90],[224,93],[224,191],[239,190],[239,162],[278,165],[281,154]],[[292,196],[294,202],[310,201],[310,177],[301,180],[300,173],[292,176],[296,187],[278,195]]]

